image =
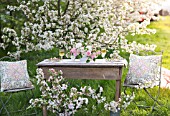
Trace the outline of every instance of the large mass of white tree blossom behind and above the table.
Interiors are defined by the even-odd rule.
[[[156,0],[22,1],[18,7],[7,7],[11,11],[21,10],[26,15],[28,20],[24,23],[21,35],[17,36],[14,30],[4,30],[5,36],[0,47],[5,49],[12,44],[16,52],[9,54],[19,57],[22,52],[49,50],[56,46],[70,51],[71,39],[75,39],[87,45],[105,45],[114,50],[121,47],[132,52],[140,45],[132,46],[125,37],[129,32],[132,35],[155,33],[155,30],[147,29],[147,25],[150,24],[153,4],[156,3]],[[143,8],[147,8],[147,14],[145,20],[138,23],[141,16],[139,12]],[[9,32],[15,34],[13,39]]]

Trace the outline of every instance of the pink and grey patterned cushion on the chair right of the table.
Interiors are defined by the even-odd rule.
[[[150,85],[156,84],[160,76],[161,55],[137,56],[130,55],[127,84]]]

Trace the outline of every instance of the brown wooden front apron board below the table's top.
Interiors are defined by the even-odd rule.
[[[43,69],[45,77],[49,77],[49,67]],[[72,79],[101,79],[101,80],[120,80],[119,68],[77,68],[77,67],[50,67],[63,71],[63,77]]]

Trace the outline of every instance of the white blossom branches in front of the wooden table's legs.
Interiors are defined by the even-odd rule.
[[[45,79],[42,69],[37,69],[37,84],[42,92],[40,98],[30,100],[29,108],[43,106],[47,110],[58,114],[59,116],[70,116],[75,114],[79,109],[86,108],[89,99],[96,101],[97,105],[104,104],[104,108],[109,111],[117,112],[121,107],[126,108],[133,97],[123,96],[118,102],[106,102],[106,97],[102,96],[103,88],[99,86],[98,90],[92,89],[90,86],[69,88],[68,82],[62,77],[62,71],[49,69],[50,76]],[[125,100],[124,100],[125,99]],[[95,108],[96,106],[93,106]]]

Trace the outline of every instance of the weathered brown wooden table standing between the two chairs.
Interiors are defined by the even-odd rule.
[[[59,62],[44,60],[37,64],[42,68],[45,77],[49,77],[48,70],[54,68],[63,71],[63,77],[72,79],[102,79],[116,80],[115,101],[118,101],[121,93],[122,68],[125,61],[106,62],[104,59],[97,59],[95,62],[85,63],[78,59],[63,59]],[[113,114],[113,113],[111,113]],[[43,108],[43,116],[47,116],[46,108]]]

